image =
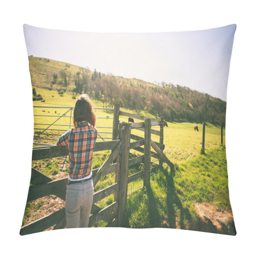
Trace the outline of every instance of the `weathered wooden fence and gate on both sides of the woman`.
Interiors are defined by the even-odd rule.
[[[161,148],[163,148],[163,140],[161,139],[161,133],[163,133],[163,131],[161,132],[163,118],[161,118],[161,122],[158,120],[151,120],[150,118],[144,118],[144,122],[128,124],[117,122],[119,114],[126,115],[126,113],[119,111],[116,111],[115,113],[113,120],[113,140],[96,142],[94,148],[94,152],[111,150],[111,154],[100,168],[92,170],[92,180],[95,186],[103,176],[114,172],[116,174],[116,180],[113,185],[94,193],[89,227],[95,226],[100,220],[106,221],[108,223],[107,227],[122,227],[127,202],[128,183],[143,178],[144,186],[148,187],[150,185],[151,156],[161,158],[162,161],[165,161],[170,166],[172,165],[161,150]],[[160,125],[160,132],[152,130],[152,125]],[[132,135],[132,129],[143,130],[144,138]],[[160,142],[152,141],[151,133],[159,135]],[[131,142],[131,138],[135,141]],[[141,148],[143,145],[144,148]],[[151,146],[157,153],[151,151]],[[130,149],[135,149],[140,152],[143,150],[144,154],[129,159]],[[66,146],[37,147],[33,148],[32,161],[67,155],[68,148]],[[114,161],[115,159],[116,161]],[[138,163],[144,163],[144,170],[128,176],[129,167]],[[163,162],[159,161],[159,163],[161,164]],[[29,187],[27,202],[48,195],[55,195],[65,200],[68,178],[52,180],[32,168],[30,183],[32,186]],[[113,193],[115,196],[112,204],[103,209],[95,204]],[[54,226],[53,229],[66,227],[65,208],[23,226],[20,229],[20,235],[41,232],[52,226]]]

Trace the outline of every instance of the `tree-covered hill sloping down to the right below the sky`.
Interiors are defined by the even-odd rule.
[[[158,86],[135,78],[101,74],[96,69],[93,72],[88,68],[63,62],[49,59],[35,61],[34,58],[29,57],[32,85],[77,94],[87,93],[92,99],[101,101],[103,107],[113,107],[114,103],[119,103],[120,107],[134,109],[138,114],[142,115],[141,112],[145,111],[156,118],[163,116],[166,121],[170,122],[202,123],[208,121],[225,125],[226,102],[207,93],[165,82]],[[36,59],[41,60],[41,58]],[[50,65],[51,62],[56,65]],[[49,69],[46,68],[47,65]],[[37,73],[35,77],[40,76],[40,70],[44,71],[43,74],[41,73],[42,76],[47,77],[47,81],[44,79],[44,86],[36,84],[36,80],[33,81],[34,69]]]

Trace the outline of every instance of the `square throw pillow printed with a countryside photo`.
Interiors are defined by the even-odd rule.
[[[235,24],[23,28],[34,141],[20,235],[75,227],[236,235],[225,145]]]

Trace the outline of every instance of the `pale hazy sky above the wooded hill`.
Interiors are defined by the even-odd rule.
[[[236,25],[161,33],[92,33],[24,24],[28,56],[146,82],[179,84],[227,100]]]

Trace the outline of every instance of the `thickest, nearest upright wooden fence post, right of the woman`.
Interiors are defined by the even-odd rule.
[[[130,151],[131,124],[123,124],[120,131],[120,139],[122,140],[121,156],[119,156],[120,168],[117,175],[118,192],[116,202],[118,209],[116,211],[117,227],[121,227],[125,218],[127,190],[128,190],[128,167],[129,167],[129,151]]]

